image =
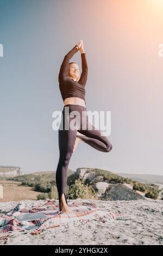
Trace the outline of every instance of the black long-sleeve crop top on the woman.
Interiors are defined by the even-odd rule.
[[[59,71],[59,88],[64,101],[67,97],[79,97],[85,101],[85,85],[87,80],[87,62],[85,52],[81,53],[82,58],[82,74],[79,81],[74,81],[68,76],[70,59],[78,51],[74,46],[70,52],[66,54]],[[85,101],[86,102],[86,101]]]

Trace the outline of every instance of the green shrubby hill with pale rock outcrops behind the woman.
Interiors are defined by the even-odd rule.
[[[42,192],[41,198],[58,198],[55,172],[35,172],[5,180],[21,182]],[[154,184],[139,183],[108,170],[98,168],[68,169],[66,193],[68,199],[94,198],[104,200],[162,199],[163,190]]]

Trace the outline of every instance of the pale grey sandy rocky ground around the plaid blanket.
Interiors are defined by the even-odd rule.
[[[8,240],[7,245],[163,245],[162,200],[97,202],[104,210],[122,210],[134,218],[109,223],[95,220],[85,224],[73,222],[47,229],[34,236],[17,233],[16,237]],[[17,202],[0,203],[0,215],[16,204]]]

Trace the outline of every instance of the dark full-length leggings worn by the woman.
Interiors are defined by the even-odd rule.
[[[67,107],[66,110],[69,107],[69,111],[65,112],[65,107]],[[71,113],[72,111],[78,111],[78,113]],[[70,123],[74,124],[74,129],[72,128],[72,126],[70,126]],[[77,135],[77,131],[82,133],[84,136]],[[59,195],[60,211],[62,193],[65,194],[66,199],[67,169],[71,159],[71,155],[73,153],[76,137],[81,138],[82,141],[99,151],[109,152],[112,149],[112,144],[110,143],[108,138],[102,135],[102,132],[100,130],[95,130],[95,126],[89,123],[86,107],[73,104],[68,104],[64,106],[58,132],[60,155],[56,171],[56,184]]]

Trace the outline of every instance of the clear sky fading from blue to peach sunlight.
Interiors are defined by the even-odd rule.
[[[111,111],[113,148],[79,143],[68,168],[162,174],[162,7],[160,0],[0,0],[0,165],[56,170],[59,68],[83,39],[87,110]],[[81,70],[79,52],[72,60]]]

